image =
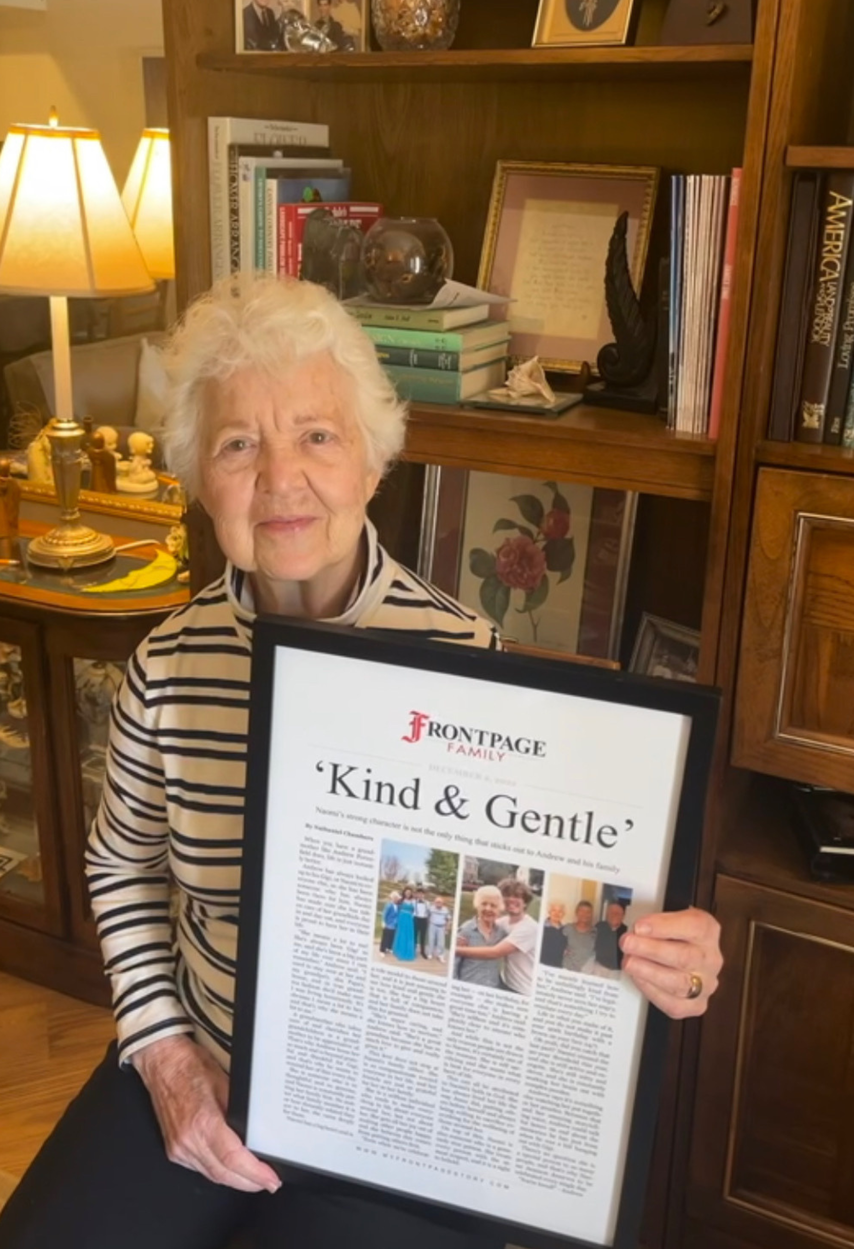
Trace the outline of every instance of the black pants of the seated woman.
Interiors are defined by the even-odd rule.
[[[474,1219],[393,1198],[341,1195],[317,1177],[238,1193],[170,1163],[145,1085],[115,1045],[0,1213],[2,1249],[499,1249]]]

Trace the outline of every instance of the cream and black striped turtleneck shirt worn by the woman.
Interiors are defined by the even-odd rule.
[[[366,535],[366,572],[331,623],[497,646]],[[141,643],[112,708],[86,876],[122,1062],[187,1034],[228,1067],[253,620],[248,577],[228,565]]]

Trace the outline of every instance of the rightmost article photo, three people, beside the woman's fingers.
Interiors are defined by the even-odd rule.
[[[563,972],[619,978],[632,891],[624,886],[549,873],[539,962]]]

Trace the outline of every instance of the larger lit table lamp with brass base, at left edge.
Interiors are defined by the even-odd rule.
[[[96,130],[11,126],[0,151],[0,291],[50,296],[56,415],[47,423],[60,523],[27,561],[46,568],[102,563],[112,542],[80,521],[84,430],[74,418],[69,296],[150,291]]]

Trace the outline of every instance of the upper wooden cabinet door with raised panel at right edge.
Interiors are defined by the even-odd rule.
[[[733,763],[854,792],[854,480],[759,473]]]

